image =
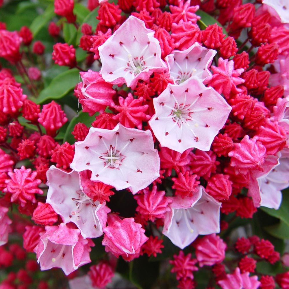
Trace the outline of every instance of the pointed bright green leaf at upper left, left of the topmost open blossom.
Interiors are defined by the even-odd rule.
[[[79,82],[79,70],[77,68],[69,69],[52,79],[47,88],[43,89],[36,103],[43,103],[49,99],[60,99],[71,91]]]

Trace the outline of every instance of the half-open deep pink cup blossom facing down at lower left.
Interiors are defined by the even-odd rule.
[[[89,252],[94,243],[91,239],[84,239],[79,229],[71,229],[61,223],[59,227],[45,226],[45,230],[34,249],[42,271],[61,268],[68,275],[91,262]]]

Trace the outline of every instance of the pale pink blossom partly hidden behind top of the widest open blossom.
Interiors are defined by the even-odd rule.
[[[202,82],[210,80],[212,73],[209,67],[216,53],[216,50],[202,47],[198,42],[186,50],[174,50],[166,57],[171,78],[175,84],[181,84],[191,77]]]

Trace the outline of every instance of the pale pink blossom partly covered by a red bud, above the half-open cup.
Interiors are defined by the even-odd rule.
[[[103,234],[110,209],[93,201],[84,192],[78,172],[67,173],[55,166],[47,171],[46,202],[62,217],[64,223],[73,222],[83,238],[97,238]]]

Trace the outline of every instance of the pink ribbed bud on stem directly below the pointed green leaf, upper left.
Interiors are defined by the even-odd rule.
[[[49,104],[43,105],[39,114],[38,122],[42,124],[48,135],[55,136],[56,131],[66,123],[68,119],[61,106],[54,100]]]

